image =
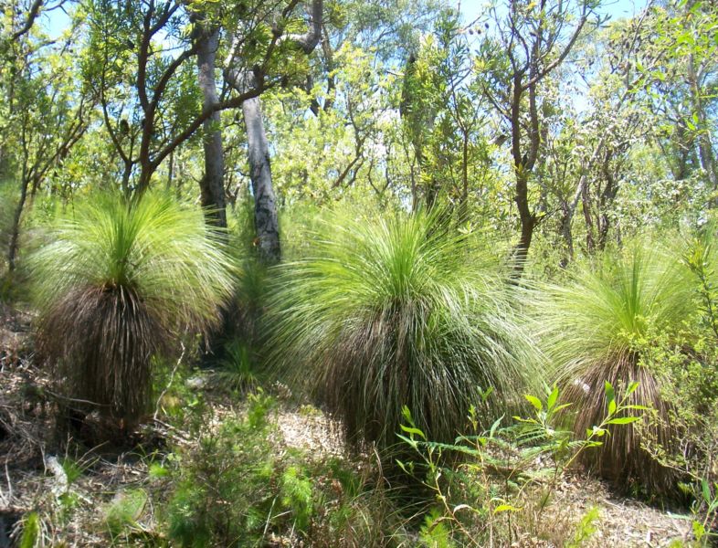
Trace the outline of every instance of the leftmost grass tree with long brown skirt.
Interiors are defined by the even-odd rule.
[[[231,294],[218,236],[167,195],[93,195],[47,227],[31,257],[37,342],[67,395],[129,425],[147,411],[153,356]]]

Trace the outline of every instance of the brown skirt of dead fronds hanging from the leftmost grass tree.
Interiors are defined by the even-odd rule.
[[[75,405],[129,424],[148,411],[150,360],[170,337],[134,290],[70,291],[38,327],[38,351]]]

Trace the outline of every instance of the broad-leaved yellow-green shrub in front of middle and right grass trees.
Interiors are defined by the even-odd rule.
[[[582,436],[561,427],[562,411],[572,404],[561,403],[557,386],[544,399],[526,395],[533,414],[514,416],[512,426],[501,427],[500,418],[482,431],[471,415],[470,432],[450,444],[428,438],[405,407],[399,437],[415,459],[400,461],[399,466],[423,483],[434,501],[420,528],[422,542],[428,546],[512,545],[514,533],[543,537],[551,527],[542,519],[543,512],[565,469],[586,452],[601,448],[620,429],[638,422],[646,411],[629,403],[638,388],[633,383],[616,395],[606,383],[604,414]],[[452,454],[469,458],[447,458]],[[548,457],[543,460],[550,466],[531,470],[539,457]],[[534,484],[540,487],[537,501],[533,500]],[[596,519],[597,511],[589,511],[558,544],[580,545],[596,532]],[[522,531],[521,524],[530,529]]]

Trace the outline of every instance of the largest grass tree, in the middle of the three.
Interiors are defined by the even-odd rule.
[[[537,380],[511,286],[440,214],[334,215],[280,267],[272,360],[342,419],[354,442],[395,443],[402,406],[452,441],[491,388],[492,414]]]

